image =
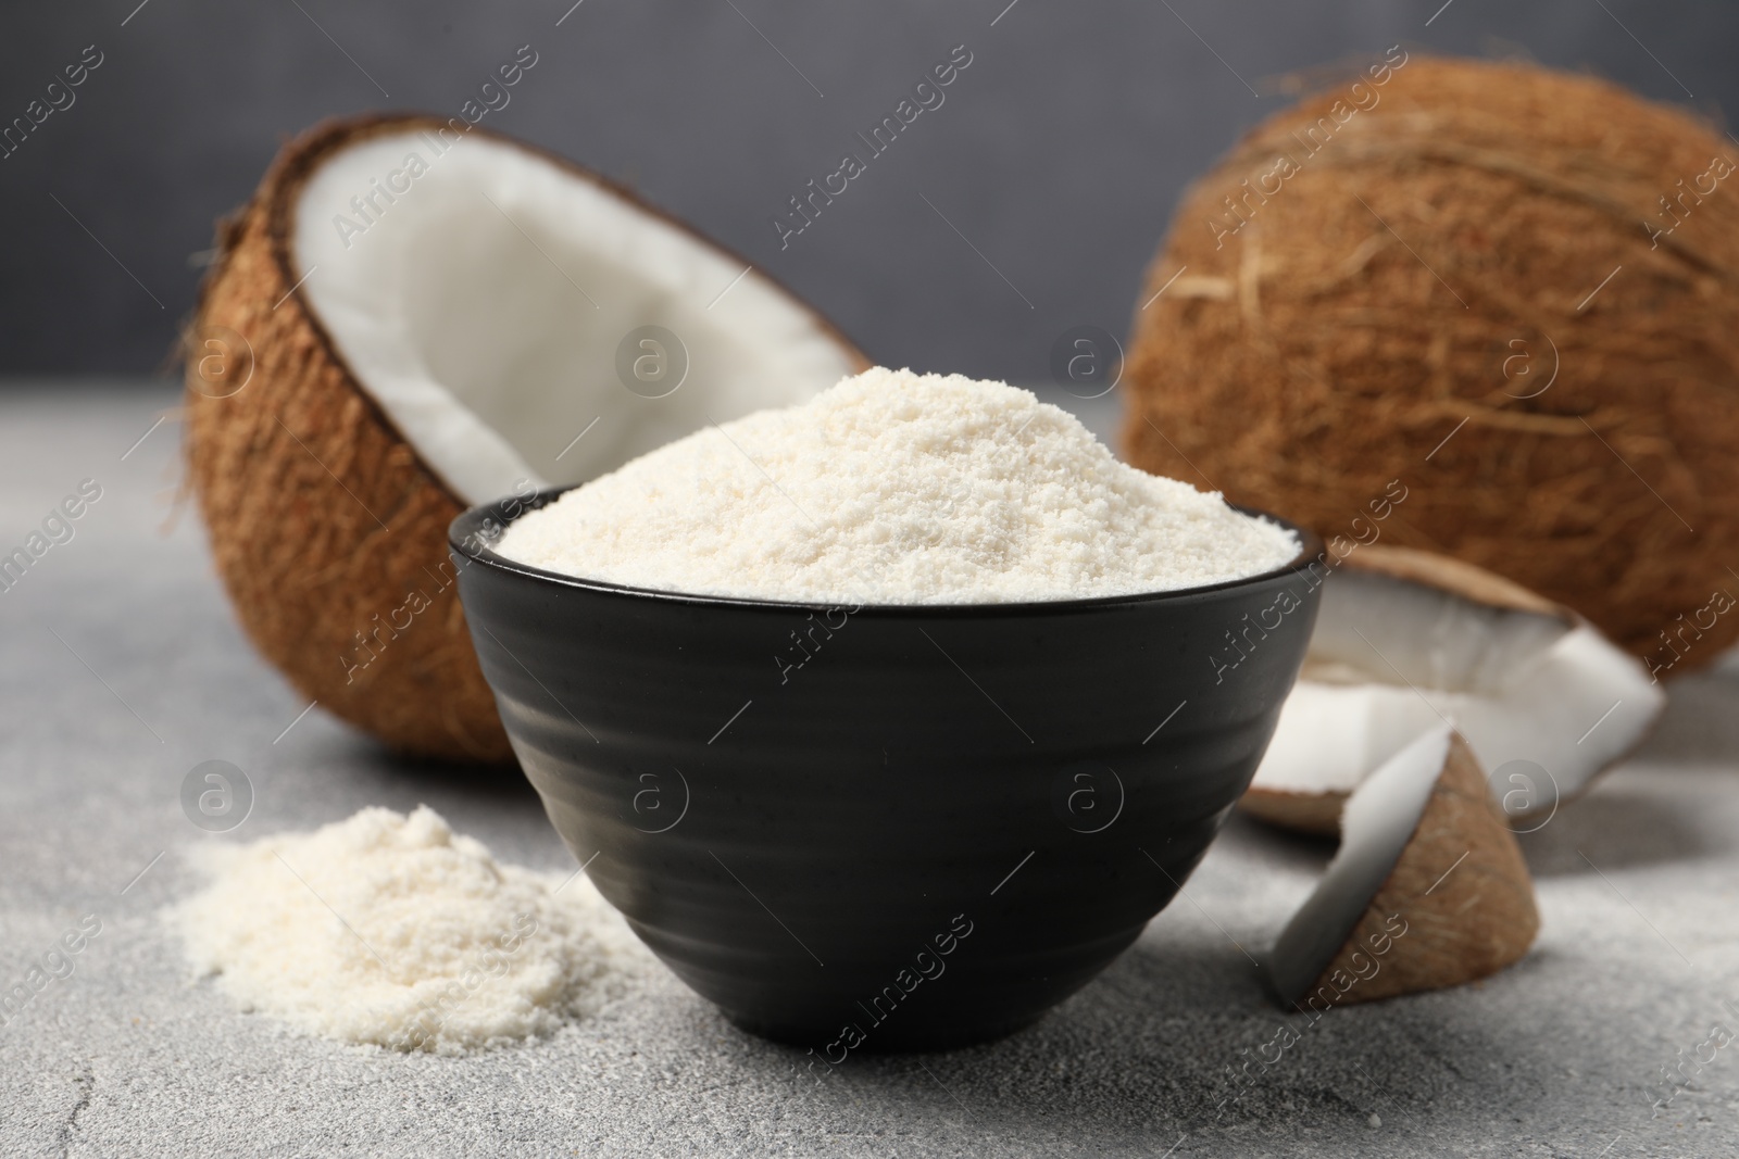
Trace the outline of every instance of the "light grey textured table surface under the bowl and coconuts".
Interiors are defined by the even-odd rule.
[[[252,652],[177,506],[163,384],[0,386],[0,549],[80,480],[71,542],[0,593],[0,989],[89,912],[103,931],[0,1027],[0,1156],[1734,1156],[1739,1044],[1668,1114],[1652,1084],[1739,1027],[1739,667],[1673,688],[1656,737],[1525,838],[1544,928],[1471,987],[1334,1011],[1223,1117],[1228,1070],[1287,1022],[1261,954],[1329,848],[1235,818],[1139,944],[1038,1027],[852,1058],[732,1029],[673,977],[603,1017],[468,1058],[283,1032],[193,982],[157,914],[183,855],[426,801],[503,860],[570,860],[516,777],[383,754]],[[167,419],[153,427],[153,422]],[[1109,400],[1089,414],[1104,431]],[[143,443],[136,443],[146,431]],[[129,452],[129,448],[132,448]],[[283,733],[280,737],[280,733]],[[197,831],[198,761],[247,770]],[[158,857],[158,855],[163,857]],[[139,876],[143,872],[143,876]]]

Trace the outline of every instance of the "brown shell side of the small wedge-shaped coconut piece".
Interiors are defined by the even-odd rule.
[[[1405,923],[1405,933],[1395,919]],[[1369,1003],[1461,985],[1518,961],[1539,933],[1534,881],[1502,811],[1459,733],[1400,860],[1323,970],[1313,994]],[[1372,954],[1374,945],[1389,945]],[[1358,954],[1355,959],[1353,956]],[[1339,978],[1377,973],[1339,994]]]

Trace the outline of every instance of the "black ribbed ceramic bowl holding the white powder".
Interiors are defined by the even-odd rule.
[[[449,532],[501,719],[635,933],[756,1034],[941,1048],[1106,968],[1243,792],[1306,570],[1148,596],[836,606],[638,591]],[[1318,568],[1320,570],[1320,568]]]

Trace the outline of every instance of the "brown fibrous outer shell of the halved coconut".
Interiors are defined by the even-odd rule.
[[[292,292],[296,202],[320,160],[358,136],[443,123],[318,125],[224,222],[188,334],[188,474],[242,627],[304,697],[396,749],[503,761],[511,749],[447,561],[447,525],[463,504],[355,386]],[[200,379],[198,342],[212,327],[254,351],[252,377],[226,398]],[[396,636],[383,632],[384,648],[370,639],[376,659],[346,674],[369,655],[356,632],[384,624],[412,591],[431,606]]]

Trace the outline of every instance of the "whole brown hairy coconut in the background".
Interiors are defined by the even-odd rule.
[[[1136,313],[1125,455],[1330,540],[1398,478],[1384,542],[1669,660],[1662,629],[1739,558],[1739,174],[1687,196],[1657,248],[1650,231],[1675,221],[1662,196],[1739,148],[1522,64],[1414,57],[1336,127],[1348,90],[1264,122],[1184,196],[1141,301],[1188,271]],[[1292,134],[1323,116],[1311,153]],[[1299,170],[1216,245],[1238,221],[1224,198],[1282,155]],[[1516,398],[1546,384],[1551,344],[1556,381]],[[1736,638],[1720,617],[1673,672]]]

